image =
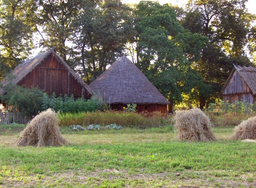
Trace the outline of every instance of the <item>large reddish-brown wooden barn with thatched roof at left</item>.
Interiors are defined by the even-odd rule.
[[[33,86],[44,90],[49,95],[54,92],[57,96],[73,94],[74,97],[90,98],[93,94],[90,87],[52,49],[24,61],[10,74],[13,78],[11,77],[11,80],[4,78],[0,85],[4,86],[11,82],[13,85]],[[5,93],[6,91],[0,88],[0,94]]]

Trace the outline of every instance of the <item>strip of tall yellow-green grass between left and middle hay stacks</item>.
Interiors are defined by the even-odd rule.
[[[160,112],[153,113],[133,113],[122,111],[105,111],[105,112],[87,112],[87,113],[59,113],[60,125],[70,126],[79,124],[88,126],[89,124],[109,125],[118,124],[122,127],[159,127],[170,125],[172,116],[163,117]]]

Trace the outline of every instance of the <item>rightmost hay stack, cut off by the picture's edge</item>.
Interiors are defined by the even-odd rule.
[[[235,127],[235,134],[231,139],[244,140],[256,139],[256,116],[242,121]]]

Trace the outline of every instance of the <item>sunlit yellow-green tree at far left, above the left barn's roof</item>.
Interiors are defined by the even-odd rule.
[[[33,47],[35,27],[27,18],[26,0],[0,1],[0,80],[23,61]]]

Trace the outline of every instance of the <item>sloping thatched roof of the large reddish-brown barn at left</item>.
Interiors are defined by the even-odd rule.
[[[13,78],[11,76],[11,79],[4,78],[0,82],[0,86],[4,86],[6,84],[9,84],[10,82],[15,85],[17,84],[22,78],[24,78],[30,71],[35,69],[38,64],[40,64],[45,58],[47,58],[48,55],[55,56],[55,58],[63,64],[63,66],[76,78],[76,80],[92,95],[93,91],[88,87],[87,84],[84,83],[84,81],[79,77],[79,75],[76,74],[76,72],[71,69],[68,64],[59,56],[56,52],[54,52],[52,49],[48,49],[45,52],[39,53],[37,56],[35,56],[32,59],[29,59],[27,61],[24,61],[23,63],[19,64],[11,73],[10,75],[14,75]],[[3,88],[0,88],[0,95],[6,94],[6,91]]]

